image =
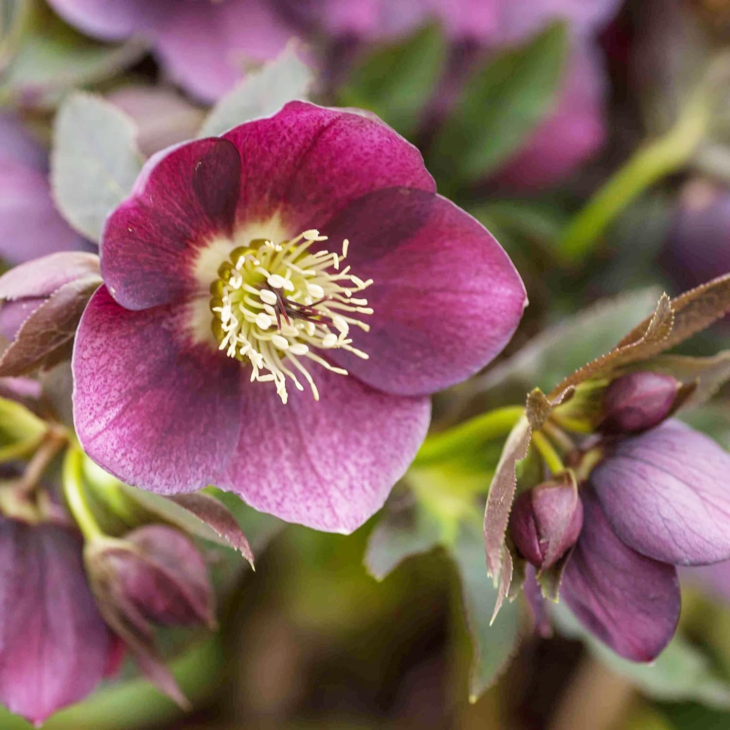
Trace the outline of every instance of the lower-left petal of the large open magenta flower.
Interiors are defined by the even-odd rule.
[[[132,312],[101,287],[74,345],[74,424],[86,453],[164,494],[212,482],[239,429],[240,365],[186,342],[183,307]]]

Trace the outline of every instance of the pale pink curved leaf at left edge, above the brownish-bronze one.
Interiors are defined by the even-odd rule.
[[[76,279],[99,274],[99,256],[83,251],[62,251],[18,264],[0,277],[0,299],[49,296]]]

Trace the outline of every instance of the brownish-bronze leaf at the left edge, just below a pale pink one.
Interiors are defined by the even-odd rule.
[[[48,369],[69,356],[86,303],[100,284],[97,275],[82,277],[64,284],[43,302],[0,358],[0,377]]]

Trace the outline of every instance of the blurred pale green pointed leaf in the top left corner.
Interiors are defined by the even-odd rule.
[[[18,11],[25,13],[20,19],[24,27],[3,49],[10,58],[4,61],[0,82],[2,104],[53,108],[73,88],[105,80],[145,53],[138,39],[123,45],[99,43],[66,26],[45,4],[26,5]]]

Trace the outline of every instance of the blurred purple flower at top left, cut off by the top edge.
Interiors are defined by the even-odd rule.
[[[105,40],[150,38],[172,80],[214,101],[248,64],[275,58],[291,31],[268,0],[50,0],[81,31]]]

